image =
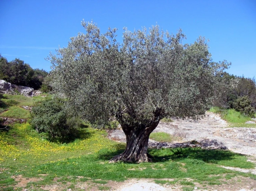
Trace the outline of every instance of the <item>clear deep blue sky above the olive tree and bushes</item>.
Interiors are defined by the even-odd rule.
[[[209,39],[213,61],[232,62],[230,74],[256,76],[256,0],[1,0],[0,53],[50,71],[44,58],[84,32],[82,19],[93,20],[102,32],[118,28],[120,40],[123,27],[157,23],[173,33],[181,28],[186,43]]]

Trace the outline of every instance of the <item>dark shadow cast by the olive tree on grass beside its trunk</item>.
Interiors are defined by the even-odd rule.
[[[124,144],[116,144],[115,150],[101,150],[98,155],[100,160],[111,160],[115,155],[121,154],[125,150]],[[217,163],[222,160],[232,160],[238,153],[220,149],[201,149],[201,148],[175,148],[175,149],[149,149],[153,162],[166,162],[168,160],[180,161],[186,158],[197,159],[206,163]]]

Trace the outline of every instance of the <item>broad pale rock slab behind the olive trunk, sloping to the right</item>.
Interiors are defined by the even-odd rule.
[[[202,147],[229,149],[236,153],[256,157],[256,128],[228,128],[228,123],[219,114],[206,112],[205,117],[198,121],[191,119],[172,119],[173,122],[160,122],[153,132],[166,132],[182,137],[182,141],[172,143],[149,140],[149,147]],[[109,132],[109,138],[125,141],[122,130]],[[193,141],[195,140],[195,141]]]

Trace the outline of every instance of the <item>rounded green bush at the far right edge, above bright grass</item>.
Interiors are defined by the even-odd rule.
[[[251,106],[251,100],[248,96],[243,96],[236,99],[233,102],[233,108],[240,113],[253,117],[255,114],[255,109]]]

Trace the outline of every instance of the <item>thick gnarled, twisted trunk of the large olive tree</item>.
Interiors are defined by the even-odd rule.
[[[126,135],[125,151],[113,157],[109,162],[151,162],[151,156],[147,153],[150,133],[157,127],[159,121],[154,122],[150,127],[129,127],[122,125]]]

